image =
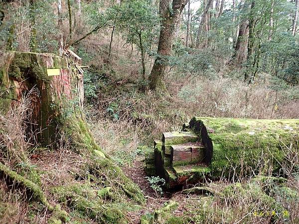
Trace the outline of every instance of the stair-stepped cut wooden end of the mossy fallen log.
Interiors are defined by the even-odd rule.
[[[161,141],[154,141],[155,174],[166,180],[167,188],[183,185],[208,171],[205,153],[205,146],[192,131],[164,132]]]

